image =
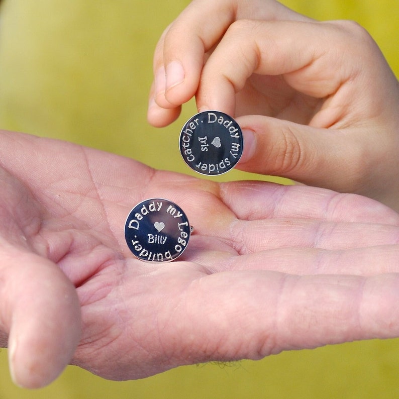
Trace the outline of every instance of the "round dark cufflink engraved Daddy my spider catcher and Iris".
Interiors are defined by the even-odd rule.
[[[220,111],[191,117],[179,137],[180,154],[194,171],[214,176],[228,172],[240,160],[244,146],[238,123]]]

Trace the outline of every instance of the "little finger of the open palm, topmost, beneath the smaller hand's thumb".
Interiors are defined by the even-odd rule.
[[[223,202],[238,219],[313,219],[399,226],[399,214],[357,194],[342,194],[305,185],[261,181],[221,183]]]

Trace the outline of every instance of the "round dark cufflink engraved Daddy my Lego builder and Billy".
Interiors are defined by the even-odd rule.
[[[183,210],[164,198],[137,204],[125,223],[125,239],[138,259],[170,262],[187,248],[192,228]]]

